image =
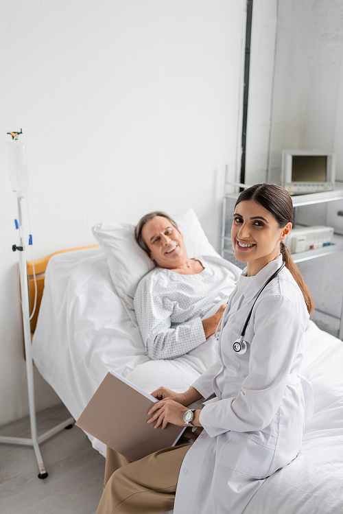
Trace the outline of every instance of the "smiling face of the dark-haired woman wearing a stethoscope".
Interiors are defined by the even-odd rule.
[[[282,229],[265,207],[254,200],[239,202],[233,215],[231,238],[237,261],[246,262],[248,275],[257,274],[280,254],[280,242],[285,240],[292,224]]]

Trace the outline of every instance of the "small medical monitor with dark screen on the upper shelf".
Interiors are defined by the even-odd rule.
[[[320,193],[335,188],[334,152],[283,150],[281,185],[289,194]]]

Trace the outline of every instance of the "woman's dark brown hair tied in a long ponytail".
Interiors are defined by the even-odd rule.
[[[244,200],[254,200],[254,202],[259,203],[262,205],[262,207],[270,211],[275,220],[278,222],[279,229],[283,229],[283,227],[289,222],[293,224],[292,198],[289,196],[287,191],[279,185],[255,184],[241,192],[237,199],[236,205],[238,205],[239,202],[243,202]],[[283,241],[281,241],[280,244],[280,253],[283,256],[286,268],[288,268],[292,273],[294,280],[303,293],[307,310],[311,315],[311,312],[314,310],[314,301],[309,292],[309,288],[307,288],[305,280],[303,279],[296,264],[294,264],[291,254],[289,253],[289,250]]]

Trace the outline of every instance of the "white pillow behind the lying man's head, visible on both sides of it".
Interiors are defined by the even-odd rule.
[[[172,216],[183,235],[189,257],[217,255],[193,209]],[[110,277],[128,314],[137,326],[133,299],[139,281],[155,268],[147,253],[134,239],[134,225],[129,223],[99,223],[93,226],[93,235],[107,256]]]

